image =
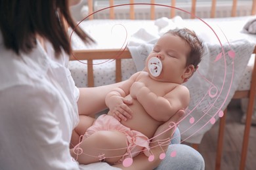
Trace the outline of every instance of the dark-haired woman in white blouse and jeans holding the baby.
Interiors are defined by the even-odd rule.
[[[93,115],[104,109],[105,94],[118,85],[75,88],[67,69],[71,49],[64,22],[75,27],[68,3],[68,0],[0,0],[2,169],[79,169],[69,152],[72,129],[78,123],[77,112]],[[76,30],[85,42],[91,42],[83,31]],[[181,116],[182,112],[178,112],[170,121],[178,122]],[[166,127],[168,124],[158,128],[155,135]],[[202,157],[188,148],[183,145],[175,148],[180,156],[188,154],[191,157],[188,160],[176,156],[179,160],[173,161],[167,156],[161,165],[175,168],[182,162],[199,161],[192,164],[200,164],[202,169]],[[156,158],[160,150],[159,146],[153,150]],[[144,169],[153,169],[160,159],[148,162],[146,157],[137,156],[133,165],[143,169],[140,168],[143,162]],[[183,167],[186,169],[186,165]]]

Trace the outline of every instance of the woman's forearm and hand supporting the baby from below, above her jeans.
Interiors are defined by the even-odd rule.
[[[158,167],[158,165],[161,163],[160,160],[160,154],[166,152],[169,144],[163,144],[159,145],[158,141],[167,141],[167,139],[170,139],[170,137],[173,135],[173,132],[175,131],[176,128],[169,129],[166,131],[166,133],[162,133],[166,129],[169,128],[169,126],[173,126],[173,124],[176,124],[176,127],[178,126],[177,124],[180,122],[182,117],[184,116],[184,110],[179,110],[177,113],[175,113],[165,124],[161,125],[158,127],[156,133],[154,134],[154,139],[152,139],[152,143],[150,143],[150,148],[152,151],[152,154],[154,154],[154,160],[153,161],[148,161],[148,157],[145,156],[144,154],[139,154],[135,158],[133,158],[133,164],[129,167],[123,167],[123,165],[117,164],[114,165],[114,167],[119,167],[121,169],[141,169],[141,170],[148,170],[148,169],[154,169]],[[162,133],[162,134],[161,134]]]

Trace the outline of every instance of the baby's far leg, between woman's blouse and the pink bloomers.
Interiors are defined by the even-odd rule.
[[[95,118],[91,118],[85,115],[79,115],[79,124],[72,131],[72,137],[70,142],[70,148],[74,148],[79,143],[81,135],[85,134],[85,131],[93,125]]]

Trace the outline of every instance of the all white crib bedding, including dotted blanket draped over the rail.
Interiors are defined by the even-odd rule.
[[[125,80],[135,73],[137,69],[140,70],[143,67],[143,59],[141,60],[141,58],[146,57],[148,52],[150,52],[152,46],[150,41],[156,41],[161,33],[167,30],[167,27],[165,27],[166,24],[169,27],[175,25],[194,29],[203,41],[207,42],[206,51],[208,58],[202,61],[199,71],[200,75],[205,76],[209,82],[207,82],[207,80],[203,82],[202,76],[196,73],[186,84],[192,94],[189,107],[192,112],[181,122],[179,128],[181,129],[183,140],[190,143],[200,143],[203,134],[212,126],[211,120],[213,121],[213,117],[215,120],[219,118],[217,115],[219,110],[223,110],[226,107],[235,90],[249,89],[248,84],[250,79],[244,79],[245,76],[243,75],[246,74],[247,77],[251,75],[251,67],[246,66],[250,54],[253,51],[254,44],[256,43],[256,36],[241,33],[241,30],[247,20],[250,20],[252,17],[253,16],[204,20],[213,27],[213,30],[215,30],[223,43],[223,46],[226,47],[225,49],[228,51],[231,46],[231,49],[236,52],[234,69],[231,67],[233,60],[228,56],[226,56],[226,59],[222,58],[214,62],[217,54],[221,52],[221,48],[219,48],[219,42],[213,32],[209,33],[211,29],[200,20],[182,20],[181,18],[175,18],[175,20],[168,20],[168,22],[166,22],[166,20],[163,19],[163,24],[161,24],[161,20],[158,20],[158,26],[154,25],[154,21],[152,20],[90,20],[81,23],[81,27],[90,33],[98,44],[90,47],[85,46],[83,42],[79,41],[79,39],[73,35],[72,46],[75,49],[121,48],[121,44],[127,42],[125,41],[126,35],[127,37],[131,37],[129,50],[132,53],[133,59],[137,59],[137,61],[134,62],[133,59],[125,59],[122,61],[122,75],[123,80]],[[100,27],[98,27],[98,24],[100,24]],[[124,27],[125,29],[123,29]],[[104,31],[102,31],[102,28],[104,28]],[[112,29],[115,30],[113,34],[111,34]],[[230,42],[230,46],[226,43],[226,39]],[[248,41],[244,41],[244,39]],[[219,64],[218,67],[216,67],[217,63],[223,63],[224,61],[226,61],[225,64]],[[226,67],[219,67],[221,65],[226,65]],[[79,63],[79,61],[70,61],[69,63],[75,84],[79,87],[87,86],[86,67],[86,64]],[[95,65],[95,86],[114,83],[114,70],[114,62]],[[223,73],[226,73],[226,77],[224,77],[225,74]],[[233,76],[232,73],[234,73]],[[243,82],[240,82],[242,77]],[[219,93],[217,93],[215,97],[209,97],[208,92],[211,88],[211,92],[214,93],[213,86],[216,86],[215,90],[217,89]],[[229,92],[227,92],[227,90],[229,90]],[[194,109],[195,106],[197,106],[196,109]],[[194,124],[189,123],[190,120],[192,120],[191,118],[194,118]]]

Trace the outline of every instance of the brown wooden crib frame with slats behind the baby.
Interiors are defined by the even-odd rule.
[[[135,20],[135,1],[131,0],[129,2],[131,5],[130,7],[130,19]],[[154,4],[156,3],[154,0],[151,0],[150,3]],[[114,6],[114,1],[109,1],[110,7]],[[176,1],[171,0],[169,5],[172,7],[175,7]],[[196,14],[196,0],[192,0],[192,6],[191,6],[191,18],[195,18],[193,14]],[[217,0],[211,1],[211,18],[215,18],[215,10],[216,10],[216,4]],[[253,0],[252,2],[252,9],[251,9],[251,15],[255,15],[256,13],[256,0]],[[230,16],[235,17],[236,16],[236,10],[238,9],[238,1],[233,0],[232,1],[232,12]],[[88,0],[88,7],[89,7],[89,20],[93,20],[93,0]],[[173,18],[175,16],[175,8],[170,9],[170,16],[167,16],[169,18]],[[114,20],[114,8],[109,9],[110,12],[110,19]],[[155,18],[155,6],[150,6],[150,18],[151,20],[156,19]],[[119,58],[116,59],[116,55],[119,54]],[[253,54],[256,54],[256,48],[253,52]],[[75,58],[74,58],[75,56]],[[119,49],[90,49],[90,50],[74,50],[74,56],[72,56],[71,60],[87,60],[87,75],[88,75],[88,86],[93,87],[95,86],[94,78],[93,78],[93,60],[95,59],[116,59],[116,82],[121,81],[121,59],[128,59],[131,58],[131,54],[127,48],[122,50],[120,52]],[[256,59],[255,64],[256,65]],[[245,130],[244,130],[244,141],[242,145],[242,154],[241,154],[241,160],[240,160],[240,169],[245,168],[245,159],[247,154],[247,146],[249,143],[249,131],[251,126],[251,116],[253,114],[253,103],[255,100],[255,90],[256,90],[256,68],[253,67],[253,73],[251,75],[251,86],[249,90],[244,91],[236,91],[236,93],[233,96],[233,99],[242,99],[242,98],[249,98],[249,103],[247,107],[247,119],[245,124]],[[223,137],[224,137],[224,126],[226,121],[226,112],[227,109],[224,110],[224,116],[220,119],[220,126],[219,126],[219,138],[218,138],[218,147],[217,147],[217,156],[216,156],[216,164],[215,169],[221,168],[221,155],[223,150]],[[198,147],[198,144],[192,145],[194,148]]]

